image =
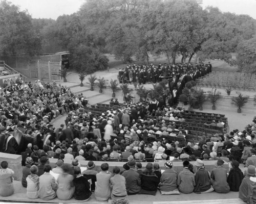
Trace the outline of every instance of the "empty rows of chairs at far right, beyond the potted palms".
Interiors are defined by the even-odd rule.
[[[231,88],[233,90],[256,90],[256,74],[212,71],[196,80],[198,86],[210,88]]]

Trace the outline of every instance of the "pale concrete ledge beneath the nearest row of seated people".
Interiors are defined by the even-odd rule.
[[[78,203],[74,198],[70,200],[60,200],[58,198],[54,198],[52,200],[42,200],[40,198],[37,199],[29,199],[27,197],[27,190],[22,186],[21,182],[14,181],[14,194],[8,197],[0,196],[0,203],[4,202],[25,202],[25,203]],[[207,194],[183,194],[180,195],[161,195],[159,191],[157,191],[156,196],[154,195],[146,195],[146,194],[139,194],[139,195],[129,195],[129,203],[130,204],[217,204],[217,203],[236,203],[242,204],[244,203],[241,199],[237,198],[238,192],[229,192],[226,194],[223,193],[216,193],[211,192]],[[216,199],[218,198],[218,199]],[[207,199],[207,200],[206,200]],[[101,203],[108,203],[108,202],[99,202],[95,199],[94,193],[91,196],[91,199],[87,202],[83,203],[92,203],[92,204],[101,204]]]

